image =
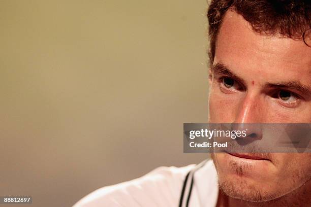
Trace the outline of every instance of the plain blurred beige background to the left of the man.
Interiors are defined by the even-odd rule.
[[[0,0],[0,195],[71,206],[207,157],[182,153],[182,123],[207,122],[206,7]]]

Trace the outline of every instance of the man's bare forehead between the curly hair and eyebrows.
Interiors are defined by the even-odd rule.
[[[311,85],[310,47],[303,41],[259,34],[236,12],[226,13],[215,46],[214,62],[222,61],[241,77],[265,82],[290,77]]]

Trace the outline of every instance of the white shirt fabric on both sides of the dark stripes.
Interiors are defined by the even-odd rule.
[[[185,177],[195,166],[158,167],[141,178],[100,188],[82,198],[73,207],[177,207]],[[219,187],[212,160],[205,162],[193,175],[194,184],[189,206],[215,206]]]

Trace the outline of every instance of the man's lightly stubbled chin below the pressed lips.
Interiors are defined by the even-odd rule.
[[[281,197],[273,179],[273,165],[268,161],[244,160],[228,154],[212,155],[220,190],[229,197],[250,202],[264,202]]]

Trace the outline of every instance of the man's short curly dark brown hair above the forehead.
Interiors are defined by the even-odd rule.
[[[279,33],[282,37],[303,40],[308,45],[305,37],[309,37],[311,30],[310,0],[211,0],[207,12],[211,65],[217,33],[228,10],[242,15],[256,32],[269,36]]]

